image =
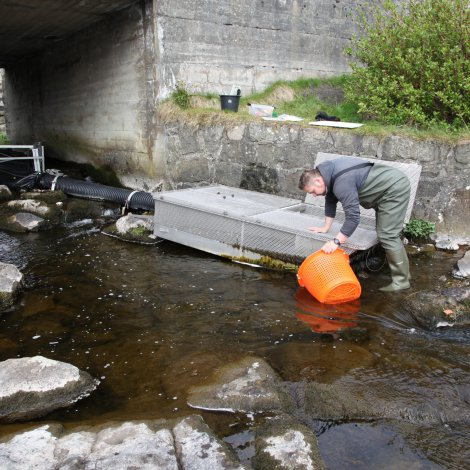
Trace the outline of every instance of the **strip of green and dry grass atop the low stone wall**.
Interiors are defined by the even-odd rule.
[[[177,120],[194,125],[235,126],[240,123],[260,121],[260,118],[248,113],[248,104],[257,103],[275,106],[279,115],[292,114],[304,118],[304,121],[295,123],[295,125],[304,127],[308,127],[308,123],[315,120],[315,116],[323,111],[330,116],[340,118],[341,121],[363,123],[362,127],[350,130],[350,132],[359,134],[378,137],[402,135],[414,139],[433,139],[447,143],[470,139],[468,128],[452,129],[443,124],[419,129],[412,126],[386,125],[379,121],[364,119],[358,114],[358,107],[344,99],[343,89],[349,78],[350,75],[342,75],[327,79],[279,80],[262,92],[242,96],[238,113],[220,110],[218,95],[207,93],[205,95],[191,95],[191,105],[188,109],[179,108],[170,98],[163,103],[159,114],[163,121]]]

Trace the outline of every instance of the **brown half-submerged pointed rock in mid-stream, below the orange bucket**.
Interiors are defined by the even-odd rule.
[[[281,381],[262,359],[247,357],[222,367],[212,381],[191,387],[188,404],[213,411],[260,413],[290,406]]]

